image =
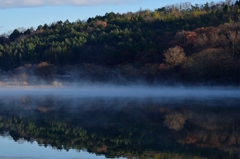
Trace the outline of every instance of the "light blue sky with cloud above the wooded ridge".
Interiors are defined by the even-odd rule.
[[[75,22],[109,12],[155,10],[183,2],[194,5],[205,4],[207,0],[0,0],[0,34],[11,34],[19,28],[36,29],[59,20]]]

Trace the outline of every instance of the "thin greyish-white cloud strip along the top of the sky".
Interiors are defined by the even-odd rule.
[[[0,8],[38,7],[56,5],[103,5],[103,4],[126,4],[140,0],[2,0]]]

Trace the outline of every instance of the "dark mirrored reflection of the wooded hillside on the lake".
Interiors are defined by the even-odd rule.
[[[240,102],[214,103],[28,96],[2,101],[0,131],[110,158],[240,158]]]

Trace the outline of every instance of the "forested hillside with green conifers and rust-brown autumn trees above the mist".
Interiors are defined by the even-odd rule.
[[[239,84],[239,18],[240,1],[227,0],[15,29],[0,37],[0,69],[51,66],[55,74],[68,74],[71,67],[101,79],[120,74],[148,81]]]

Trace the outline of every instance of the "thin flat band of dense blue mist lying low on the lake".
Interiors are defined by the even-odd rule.
[[[7,86],[0,87],[0,96],[57,95],[64,97],[134,97],[134,98],[238,98],[240,89],[233,87],[182,87],[182,86],[116,86],[107,84],[61,85],[59,87]]]

